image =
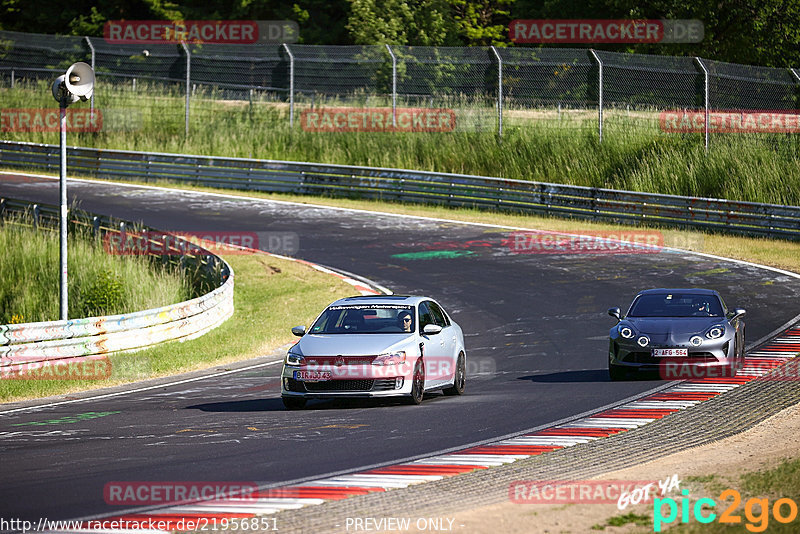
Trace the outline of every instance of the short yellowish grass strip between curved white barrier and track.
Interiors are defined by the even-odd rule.
[[[235,312],[218,328],[183,343],[114,354],[108,380],[0,380],[0,402],[60,395],[169,376],[253,358],[290,342],[289,328],[309,324],[352,286],[297,262],[265,254],[221,254],[234,269]]]

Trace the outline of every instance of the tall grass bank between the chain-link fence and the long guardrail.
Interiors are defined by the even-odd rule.
[[[184,137],[185,101],[177,86],[140,83],[134,92],[130,85],[101,82],[95,102],[109,120],[104,121],[101,132],[70,134],[69,143],[800,204],[800,142],[790,134],[716,134],[706,153],[701,134],[662,132],[656,112],[608,110],[600,143],[592,112],[510,109],[504,115],[504,135],[499,139],[491,108],[476,102],[456,109],[457,117],[469,117],[469,126],[450,133],[315,133],[303,131],[299,125],[299,114],[308,107],[307,102],[298,105],[291,128],[285,102],[244,92],[239,100],[221,96],[210,89],[196,92],[191,99],[190,134]],[[55,107],[44,83],[2,88],[0,99],[6,108]],[[359,105],[382,103],[373,100],[355,98]],[[114,109],[128,110],[132,118],[115,118]],[[3,135],[12,140],[58,142],[57,133]]]

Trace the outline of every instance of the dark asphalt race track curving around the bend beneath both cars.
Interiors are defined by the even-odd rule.
[[[467,392],[288,412],[275,364],[2,415],[6,518],[120,513],[103,499],[111,481],[277,485],[527,430],[663,385],[607,378],[606,310],[640,289],[717,289],[747,309],[748,342],[791,320],[800,297],[797,278],[688,253],[520,254],[509,230],[461,223],[117,184],[70,182],[69,193],[164,230],[296,235],[295,257],[437,298],[466,334]],[[56,204],[58,182],[4,175],[0,196]]]

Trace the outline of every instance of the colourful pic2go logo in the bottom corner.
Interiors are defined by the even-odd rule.
[[[690,512],[698,523],[713,523],[717,519],[717,514],[712,511],[717,506],[714,499],[698,499],[694,505],[691,505],[689,502],[689,490],[683,490],[681,493],[684,498],[680,499],[680,504],[669,497],[653,500],[653,532],[661,532],[663,525],[677,520],[679,511],[681,523],[690,521]],[[742,496],[739,492],[734,489],[726,489],[719,494],[719,498],[722,501],[732,499],[725,511],[719,514],[719,522],[741,524],[742,517],[735,513],[742,502]],[[665,507],[667,509],[666,515],[664,515]],[[770,508],[769,499],[755,497],[748,499],[744,503],[744,516],[748,521],[745,523],[745,528],[750,532],[764,532],[769,526],[770,512],[778,523],[791,523],[797,519],[797,503],[792,499],[783,498],[775,501],[772,508]]]

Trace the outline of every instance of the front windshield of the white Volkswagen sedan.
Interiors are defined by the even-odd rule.
[[[311,325],[311,334],[409,334],[414,307],[399,304],[331,306]]]

